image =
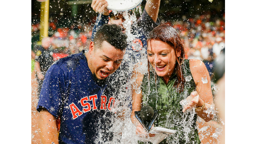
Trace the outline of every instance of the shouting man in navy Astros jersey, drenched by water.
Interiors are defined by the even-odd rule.
[[[83,50],[61,58],[48,69],[37,106],[43,144],[94,143],[97,137],[94,123],[98,117],[92,115],[113,106],[114,100],[104,99],[102,92],[106,78],[122,62],[126,39],[120,26],[103,25],[94,42],[90,42],[88,52]]]

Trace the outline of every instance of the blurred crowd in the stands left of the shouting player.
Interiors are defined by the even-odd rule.
[[[39,32],[40,25],[32,24],[33,36]],[[56,28],[56,24],[51,22],[49,24],[49,31],[52,35],[50,37],[49,50],[52,52],[54,61],[60,57],[67,56],[81,52],[83,49],[87,49],[90,43],[92,28],[89,25],[78,25],[76,27],[62,27]],[[79,31],[80,30],[80,31]],[[33,38],[32,36],[32,38]],[[37,51],[39,45],[32,41],[32,50]]]

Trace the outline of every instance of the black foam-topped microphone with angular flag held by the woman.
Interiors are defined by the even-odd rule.
[[[145,105],[141,111],[135,111],[134,114],[144,129],[149,132],[158,115],[158,110],[153,110],[151,106]]]

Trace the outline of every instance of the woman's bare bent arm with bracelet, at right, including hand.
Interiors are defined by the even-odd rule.
[[[187,98],[187,101],[191,102],[188,102],[188,105],[184,106],[182,111],[185,112],[186,109],[191,107],[202,107],[204,105],[202,109],[196,109],[196,113],[199,117],[204,119],[204,121],[208,122],[213,119],[212,113],[208,114],[204,112],[213,104],[211,79],[208,70],[202,61],[192,59],[189,60],[189,64],[191,74],[196,84],[196,91],[192,92],[191,95]],[[206,80],[203,82],[202,78],[207,79],[207,82]]]

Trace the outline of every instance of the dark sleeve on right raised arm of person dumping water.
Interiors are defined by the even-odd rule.
[[[137,20],[137,24],[142,29],[143,34],[147,37],[149,32],[160,24],[160,20],[157,18],[156,22],[154,22],[144,9],[142,15]]]

